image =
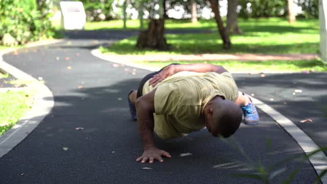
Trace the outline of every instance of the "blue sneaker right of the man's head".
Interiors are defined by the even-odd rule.
[[[249,96],[248,96],[249,97]],[[241,107],[244,113],[244,123],[246,125],[256,125],[259,123],[259,114],[256,111],[255,105],[252,102],[252,99],[249,97],[251,103],[246,106]]]

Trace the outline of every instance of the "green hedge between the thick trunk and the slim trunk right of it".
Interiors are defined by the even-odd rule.
[[[240,0],[240,17],[277,17],[287,15],[287,1],[279,0]]]

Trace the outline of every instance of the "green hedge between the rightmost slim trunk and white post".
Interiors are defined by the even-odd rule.
[[[297,5],[302,8],[305,18],[318,18],[319,0],[298,0]]]

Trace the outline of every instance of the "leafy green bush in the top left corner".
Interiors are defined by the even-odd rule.
[[[0,39],[9,33],[16,44],[53,35],[50,14],[43,15],[35,0],[0,1]]]

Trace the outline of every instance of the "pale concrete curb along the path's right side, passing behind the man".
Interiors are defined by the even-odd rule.
[[[111,60],[110,56],[105,56],[100,52],[99,49],[94,49],[91,51],[91,54],[95,57],[98,57],[103,60],[107,60],[114,63],[119,63],[122,65],[132,66],[136,68],[141,68],[144,70],[150,71],[158,71],[160,68],[155,67],[142,67],[132,62],[122,62],[117,60]],[[263,112],[268,114],[276,123],[281,126],[293,139],[298,143],[298,145],[302,148],[302,150],[309,155],[315,150],[320,149],[317,144],[313,142],[313,140],[303,131],[301,130],[295,123],[291,120],[283,116],[283,114],[279,113],[269,105],[263,103],[262,101],[251,97],[255,106],[260,108]],[[313,168],[319,175],[323,170],[327,169],[327,156],[323,152],[318,152],[312,155],[309,158],[310,163],[312,164]],[[327,184],[327,174],[321,178],[323,184]]]

